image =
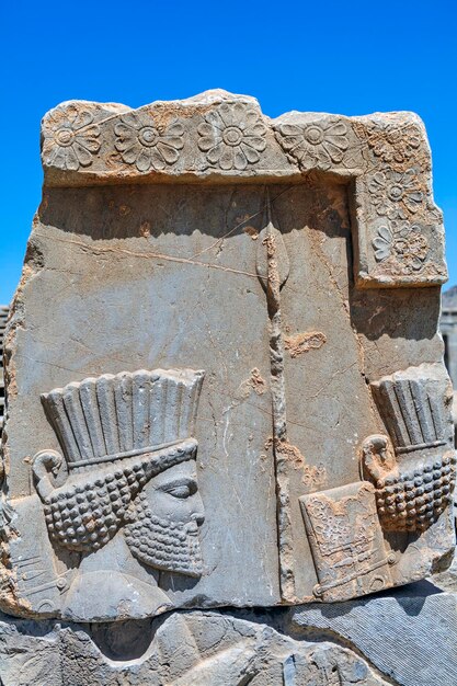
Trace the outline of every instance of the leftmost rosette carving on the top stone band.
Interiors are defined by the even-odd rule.
[[[56,110],[46,118],[43,141],[43,162],[47,167],[58,167],[78,171],[90,167],[93,156],[100,150],[100,128],[93,124],[93,114],[69,105]]]

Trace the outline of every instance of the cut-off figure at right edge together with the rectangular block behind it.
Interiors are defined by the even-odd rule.
[[[452,521],[456,456],[443,366],[397,371],[372,382],[372,390],[393,447],[385,435],[368,436],[361,449],[364,481],[299,499],[320,581],[313,593],[324,601],[354,597],[351,584],[362,593],[395,584],[409,544],[434,525],[431,538],[439,539],[443,513]]]

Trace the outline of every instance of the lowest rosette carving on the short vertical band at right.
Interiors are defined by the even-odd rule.
[[[403,274],[419,272],[429,255],[429,241],[421,232],[420,227],[400,225],[392,230],[381,226],[372,241],[377,262],[389,258]]]

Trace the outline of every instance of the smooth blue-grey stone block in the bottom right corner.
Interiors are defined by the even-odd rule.
[[[351,645],[395,684],[457,683],[456,596],[426,581],[389,595],[295,608],[286,630],[297,638],[297,628],[309,640],[320,636]]]

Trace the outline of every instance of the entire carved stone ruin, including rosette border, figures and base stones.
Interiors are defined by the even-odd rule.
[[[449,597],[395,591],[455,542],[419,117],[75,101],[42,158],[4,343],[4,684],[443,685],[446,648],[414,660]],[[379,614],[407,647],[364,643]]]

